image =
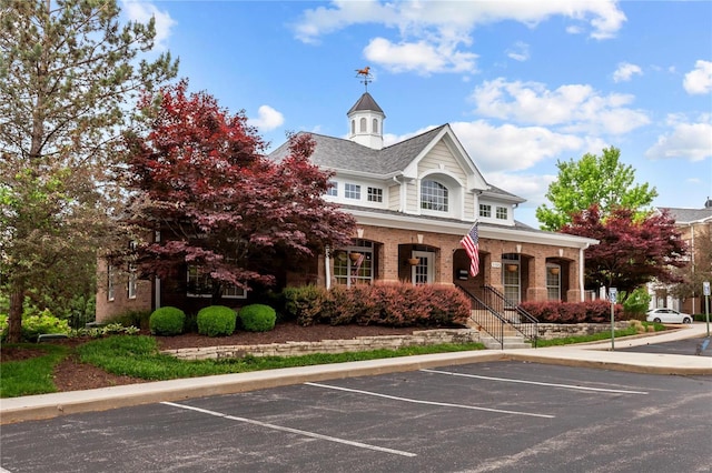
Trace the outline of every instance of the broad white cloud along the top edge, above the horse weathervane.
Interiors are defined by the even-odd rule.
[[[336,0],[304,11],[294,26],[296,37],[307,43],[353,24],[380,24],[397,30],[397,39],[374,38],[364,53],[372,62],[395,72],[476,72],[477,54],[466,48],[471,33],[483,24],[516,21],[530,28],[552,17],[575,22],[575,30],[590,31],[594,39],[615,36],[625,14],[613,0],[507,1],[419,1],[380,2],[378,0]],[[424,54],[422,58],[418,54]],[[518,61],[528,58],[526,48],[508,51]]]

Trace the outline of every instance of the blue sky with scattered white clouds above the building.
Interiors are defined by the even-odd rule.
[[[120,0],[154,53],[270,143],[346,138],[365,87],[385,144],[449,123],[486,181],[538,227],[557,162],[615,147],[655,207],[712,198],[711,1]],[[268,151],[269,151],[268,149]]]

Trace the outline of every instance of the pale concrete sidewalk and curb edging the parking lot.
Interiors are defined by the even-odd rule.
[[[706,324],[695,323],[663,334],[616,340],[615,349],[705,335]],[[0,424],[50,419],[80,412],[105,411],[161,401],[180,401],[198,396],[231,394],[305,382],[492,361],[528,361],[636,373],[712,375],[712,358],[709,356],[621,352],[611,351],[610,349],[611,342],[607,341],[605,343],[545,349],[442,353],[0,399]],[[708,350],[712,350],[712,348]]]

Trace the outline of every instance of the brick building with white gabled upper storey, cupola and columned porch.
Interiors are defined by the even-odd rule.
[[[347,139],[310,133],[316,142],[312,161],[335,172],[325,200],[338,203],[356,219],[353,245],[329,249],[312,264],[285,271],[279,279],[286,285],[406,281],[462,285],[475,293],[490,285],[512,303],[584,299],[584,251],[597,240],[517,222],[514,213],[524,199],[490,184],[449,124],[384,147],[386,115],[368,92],[347,117]],[[269,158],[281,160],[288,152],[284,143]],[[475,222],[479,272],[473,278],[459,241]],[[111,271],[108,274],[110,278]],[[188,281],[190,270],[180,278]],[[185,283],[156,280],[144,284],[138,291],[151,294],[135,295],[134,305],[196,308],[209,303],[189,293]],[[113,299],[100,290],[97,320],[132,305],[123,298],[129,292],[117,291],[117,283],[103,285],[115,288]],[[228,295],[231,299],[225,303],[239,305],[245,295]]]

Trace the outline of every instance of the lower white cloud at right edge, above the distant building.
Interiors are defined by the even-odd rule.
[[[708,117],[709,119],[709,117]],[[645,157],[650,159],[680,158],[690,161],[702,161],[712,158],[712,123],[680,123],[673,118],[673,129],[662,134]]]

